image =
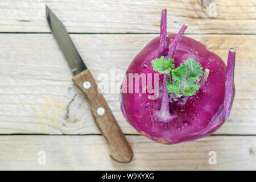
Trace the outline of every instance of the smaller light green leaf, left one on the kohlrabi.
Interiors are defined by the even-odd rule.
[[[151,61],[154,71],[158,71],[160,74],[166,73],[168,75],[170,75],[170,72],[174,69],[174,64],[172,63],[174,63],[173,59],[169,58],[166,60],[164,59],[164,56]]]

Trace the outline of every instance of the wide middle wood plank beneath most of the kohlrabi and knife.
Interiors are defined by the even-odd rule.
[[[71,37],[97,84],[115,72],[115,85],[131,60],[156,35],[85,35]],[[254,35],[189,35],[220,55],[237,49],[236,100],[215,134],[256,134],[256,48]],[[88,103],[51,34],[0,34],[0,133],[99,134]],[[104,73],[105,75],[102,75]],[[108,80],[106,80],[108,81]],[[109,83],[110,85],[110,83]],[[109,92],[114,89],[110,85]],[[119,91],[119,86],[116,86]],[[119,94],[104,93],[126,134],[138,134],[123,118]]]

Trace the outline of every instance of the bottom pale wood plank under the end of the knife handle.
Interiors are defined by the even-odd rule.
[[[102,136],[14,135],[0,137],[0,170],[255,170],[256,137],[207,137],[172,146],[127,136],[131,163],[108,156]],[[150,149],[150,150],[148,150]],[[39,165],[39,151],[46,164]],[[217,164],[209,164],[209,152]],[[41,163],[42,164],[42,163]]]

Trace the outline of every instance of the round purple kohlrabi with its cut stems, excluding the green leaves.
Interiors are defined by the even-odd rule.
[[[127,122],[146,137],[164,144],[174,144],[206,137],[216,131],[229,117],[235,95],[234,65],[236,51],[229,49],[228,63],[207,50],[207,48],[186,36],[183,36],[187,24],[178,34],[167,34],[166,9],[162,11],[160,36],[151,40],[131,62],[126,71],[129,74],[146,76],[147,83],[159,82],[159,92],[141,93],[143,83],[139,83],[139,93],[129,93],[129,82],[123,81],[121,86],[121,110]],[[182,36],[182,38],[181,38]],[[203,67],[204,74],[197,80],[200,86],[192,96],[177,96],[169,93],[167,81],[171,75],[159,74],[152,68],[151,61],[164,56],[174,59],[175,68],[183,60],[193,58]],[[154,77],[157,75],[157,80]],[[153,86],[154,88],[154,86]],[[133,88],[134,89],[134,88]],[[124,92],[125,91],[125,92]],[[156,90],[155,90],[156,91]]]

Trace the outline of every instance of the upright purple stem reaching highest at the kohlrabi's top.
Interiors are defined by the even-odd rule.
[[[160,46],[158,56],[162,56],[166,52],[167,45],[167,23],[166,23],[166,9],[162,10],[161,26],[160,26]]]

